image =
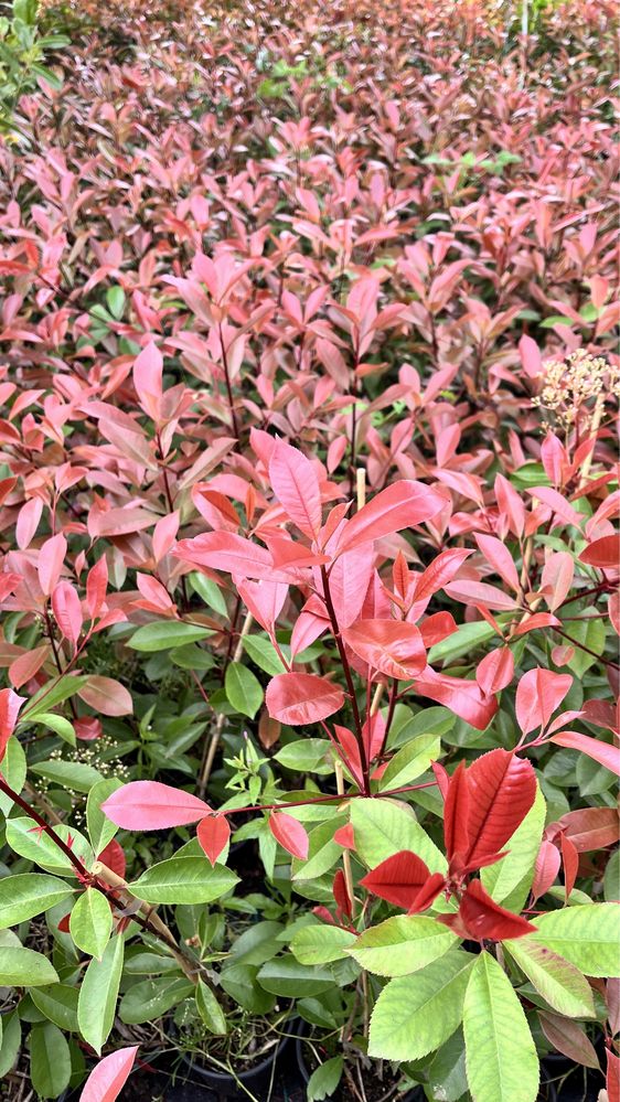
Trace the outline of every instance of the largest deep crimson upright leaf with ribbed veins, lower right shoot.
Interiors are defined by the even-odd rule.
[[[496,854],[530,811],[536,777],[530,761],[509,750],[490,750],[467,771],[469,848],[464,864]]]

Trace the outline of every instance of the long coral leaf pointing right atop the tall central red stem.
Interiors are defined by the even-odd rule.
[[[371,539],[382,539],[402,528],[423,524],[437,516],[445,505],[445,499],[423,482],[394,482],[346,522],[339,539],[338,553],[351,550]]]

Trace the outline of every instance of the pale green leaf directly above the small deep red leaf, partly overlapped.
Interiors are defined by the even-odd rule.
[[[351,823],[357,853],[370,868],[402,849],[410,849],[426,862],[431,873],[446,871],[443,854],[406,804],[396,800],[353,800]]]

